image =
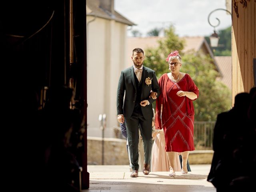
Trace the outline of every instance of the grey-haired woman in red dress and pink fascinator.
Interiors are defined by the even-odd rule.
[[[182,174],[187,174],[189,151],[194,148],[194,106],[199,90],[192,78],[180,72],[182,59],[178,51],[171,52],[166,61],[170,73],[163,74],[158,83],[161,94],[156,100],[156,129],[164,129],[165,151],[170,165],[170,176],[175,176],[173,165],[176,152],[182,155]]]

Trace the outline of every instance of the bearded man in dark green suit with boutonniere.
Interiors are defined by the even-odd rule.
[[[138,142],[140,132],[144,142],[144,168],[145,175],[150,172],[152,149],[152,102],[160,95],[160,87],[154,70],[144,67],[144,52],[141,48],[132,50],[133,66],[122,70],[117,90],[118,122],[126,123],[127,138],[132,164],[131,177],[138,177]],[[151,90],[152,96],[150,95]],[[124,98],[125,94],[125,98]]]

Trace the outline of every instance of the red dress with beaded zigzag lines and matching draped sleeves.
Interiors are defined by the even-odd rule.
[[[178,82],[172,81],[167,74],[163,74],[158,83],[161,94],[156,100],[156,129],[164,129],[165,151],[195,150],[194,106],[191,99],[186,96],[179,97],[176,93],[182,90],[194,92],[198,96],[197,86],[188,74]],[[161,104],[163,104],[162,117]]]

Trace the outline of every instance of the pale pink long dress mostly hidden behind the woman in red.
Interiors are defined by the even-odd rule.
[[[177,158],[175,158],[174,170],[181,171],[180,158],[177,153]],[[168,157],[165,152],[165,140],[164,132],[162,130],[156,135],[152,146],[152,157],[151,157],[151,171],[169,171],[169,162]]]

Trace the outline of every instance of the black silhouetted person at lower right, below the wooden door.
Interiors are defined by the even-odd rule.
[[[248,108],[250,95],[235,96],[234,107],[218,115],[214,127],[212,166],[208,181],[220,191],[245,190],[252,187],[254,146]]]

